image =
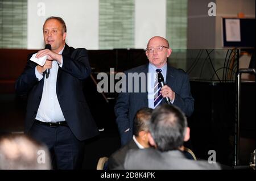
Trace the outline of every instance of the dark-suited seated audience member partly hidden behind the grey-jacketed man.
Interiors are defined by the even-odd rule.
[[[148,124],[151,119],[151,108],[141,108],[134,117],[134,135],[133,139],[128,142],[121,149],[115,151],[108,161],[109,169],[123,165],[125,162],[125,155],[130,149],[144,149],[148,148]]]

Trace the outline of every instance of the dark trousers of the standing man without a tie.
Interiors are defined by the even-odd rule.
[[[28,134],[48,146],[53,169],[81,169],[84,141],[77,140],[68,127],[34,123]]]

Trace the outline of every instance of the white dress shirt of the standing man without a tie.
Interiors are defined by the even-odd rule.
[[[59,52],[59,54],[62,54],[64,47]],[[63,115],[63,112],[61,111],[60,103],[56,93],[57,73],[59,70],[59,66],[62,67],[63,65],[62,56],[61,62],[62,63],[59,65],[59,63],[56,60],[53,60],[49,77],[44,78],[43,94],[38,108],[38,113],[36,114],[36,120],[52,123],[55,123],[57,121],[65,121],[65,117]],[[40,74],[36,68],[35,74],[38,78],[38,81],[40,81],[43,78],[43,75]]]

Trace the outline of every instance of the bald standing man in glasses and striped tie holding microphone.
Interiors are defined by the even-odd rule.
[[[166,103],[166,98],[168,97],[171,103],[179,107],[185,115],[192,115],[194,99],[190,91],[189,78],[183,71],[167,65],[167,58],[171,52],[172,49],[169,48],[169,43],[166,39],[159,36],[152,37],[148,41],[146,50],[149,64],[125,71],[126,88],[130,89],[132,87],[132,90],[121,91],[114,107],[117,117],[116,122],[121,135],[121,145],[125,145],[131,140],[133,136],[133,119],[135,113],[142,107],[155,108],[159,104]],[[155,106],[154,99],[152,99],[152,90],[148,90],[150,90],[150,87],[154,87],[154,78],[151,75],[156,74],[156,69],[162,71],[166,85],[159,91],[163,99]],[[144,78],[142,76],[137,83],[127,81],[129,74],[135,73],[146,76]],[[148,75],[148,73],[151,74]],[[138,87],[136,92],[136,84],[144,87]]]

